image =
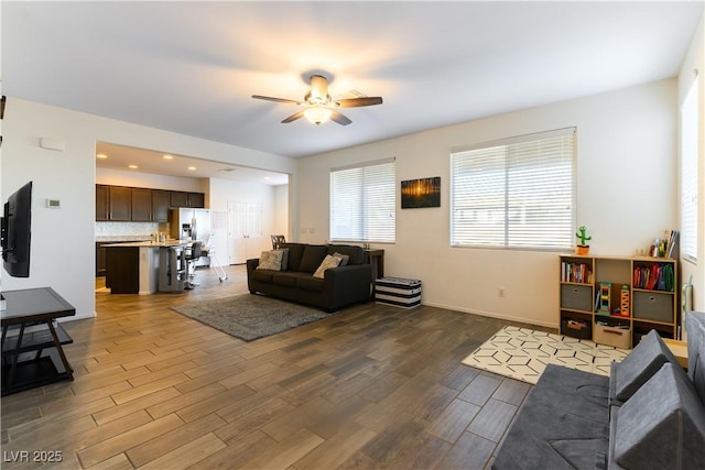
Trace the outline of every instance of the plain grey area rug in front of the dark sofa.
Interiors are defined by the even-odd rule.
[[[194,302],[172,307],[172,310],[245,341],[264,338],[333,315],[317,308],[253,294]]]

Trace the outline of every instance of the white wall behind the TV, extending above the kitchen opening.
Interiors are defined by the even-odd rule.
[[[34,182],[31,275],[2,272],[4,291],[52,286],[76,307],[78,317],[95,315],[96,142],[295,173],[292,159],[175,134],[143,125],[69,111],[8,97],[2,121],[1,198]],[[59,139],[64,152],[41,149],[40,138]],[[46,198],[62,201],[45,209]]]

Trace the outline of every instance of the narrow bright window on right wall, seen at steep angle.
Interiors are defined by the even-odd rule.
[[[697,261],[697,79],[681,107],[681,255]]]

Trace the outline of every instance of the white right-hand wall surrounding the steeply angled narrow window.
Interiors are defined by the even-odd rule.
[[[693,276],[693,308],[705,311],[705,14],[701,18],[699,25],[687,54],[683,59],[679,74],[679,105],[683,102],[693,83],[693,70],[697,72],[699,92],[699,165],[698,173],[698,210],[697,220],[697,264],[683,261],[681,264],[682,280],[687,281]],[[680,109],[680,106],[679,106]]]

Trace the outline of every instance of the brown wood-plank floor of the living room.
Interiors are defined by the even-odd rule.
[[[482,469],[530,390],[460,364],[506,321],[369,303],[248,343],[170,309],[246,293],[245,267],[197,277],[97,288],[63,324],[75,380],[2,398],[1,467]]]

